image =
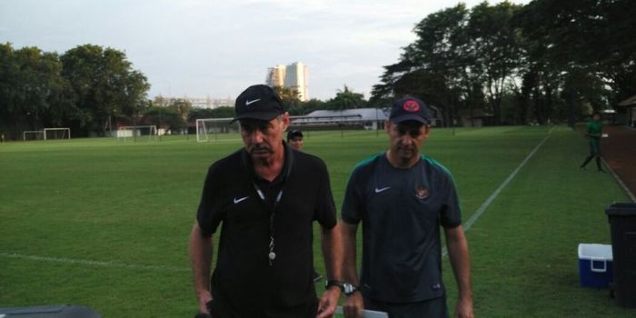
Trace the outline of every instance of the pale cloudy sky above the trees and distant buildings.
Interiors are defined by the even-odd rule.
[[[472,7],[482,0],[462,1]],[[496,4],[500,1],[490,1]],[[511,1],[527,4],[529,1]],[[267,68],[301,62],[309,97],[344,85],[369,98],[413,27],[453,0],[0,0],[0,43],[63,55],[124,51],[156,95],[234,98]]]

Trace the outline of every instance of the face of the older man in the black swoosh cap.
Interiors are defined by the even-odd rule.
[[[241,120],[241,138],[253,160],[268,159],[283,148],[283,132],[289,124],[285,113],[266,122],[256,119]]]

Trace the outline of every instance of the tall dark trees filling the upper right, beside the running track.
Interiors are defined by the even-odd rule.
[[[567,121],[636,94],[636,5],[534,0],[428,15],[399,61],[384,67],[372,104],[412,94],[442,110],[483,110],[493,124]]]

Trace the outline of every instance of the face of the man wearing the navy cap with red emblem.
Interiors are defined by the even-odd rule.
[[[400,124],[387,121],[385,129],[391,141],[391,153],[402,162],[409,162],[420,156],[422,143],[428,138],[431,126],[417,121]]]

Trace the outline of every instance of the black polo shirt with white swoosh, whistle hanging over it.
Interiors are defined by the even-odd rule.
[[[272,183],[254,173],[244,148],[212,164],[205,179],[197,220],[207,235],[221,224],[212,293],[227,316],[315,316],[312,223],[333,228],[335,206],[323,161],[284,149],[283,172]],[[270,214],[281,191],[270,265]]]

